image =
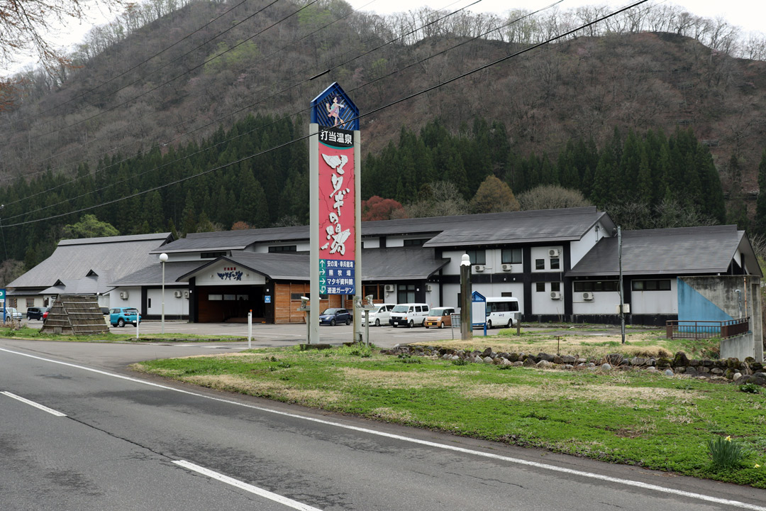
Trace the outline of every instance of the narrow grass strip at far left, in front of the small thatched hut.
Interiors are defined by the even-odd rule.
[[[139,327],[139,339],[136,339],[136,329],[126,329],[126,333],[105,332],[95,336],[62,336],[52,333],[43,333],[39,328],[29,328],[21,326],[21,329],[12,329],[8,326],[0,326],[0,337],[4,339],[38,339],[43,341],[64,341],[64,342],[232,342],[247,340],[242,337],[228,336],[197,336],[190,333],[166,333],[145,334]]]

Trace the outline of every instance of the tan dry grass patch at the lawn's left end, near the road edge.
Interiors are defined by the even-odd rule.
[[[182,381],[224,391],[283,399],[303,405],[329,405],[342,400],[340,392],[326,389],[301,389],[286,382],[254,380],[232,375],[186,376]]]

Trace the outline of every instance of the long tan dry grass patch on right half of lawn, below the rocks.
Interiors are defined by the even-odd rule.
[[[548,382],[543,385],[476,385],[463,392],[466,398],[505,399],[513,401],[558,401],[571,399],[597,401],[605,405],[630,403],[638,408],[650,408],[656,401],[667,398],[702,398],[688,390],[656,387],[621,387],[613,385],[570,385],[568,382]]]

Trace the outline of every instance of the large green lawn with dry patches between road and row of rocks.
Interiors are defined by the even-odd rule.
[[[545,351],[529,346],[525,351]],[[380,421],[766,488],[766,394],[727,383],[641,371],[456,365],[364,347],[261,349],[154,360],[133,369]],[[745,447],[737,469],[712,467],[707,441],[719,436]]]

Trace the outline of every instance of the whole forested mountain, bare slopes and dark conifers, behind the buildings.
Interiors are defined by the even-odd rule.
[[[306,109],[332,81],[363,115],[365,198],[447,181],[468,201],[494,175],[516,195],[578,190],[624,225],[744,226],[766,45],[660,5],[527,51],[604,14],[133,5],[0,113],[3,255],[35,264],[87,213],[120,234],[305,222]]]

